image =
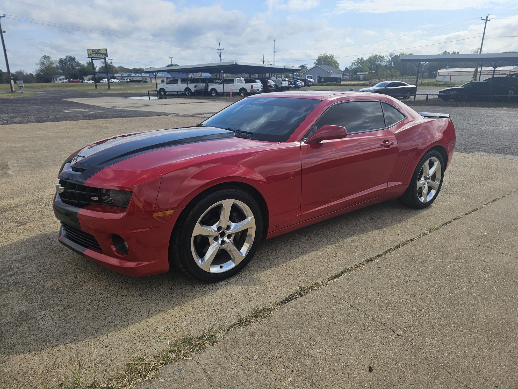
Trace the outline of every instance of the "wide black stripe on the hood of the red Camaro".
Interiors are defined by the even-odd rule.
[[[84,184],[107,166],[146,152],[234,137],[232,131],[215,127],[187,127],[114,136],[82,149],[70,162],[64,164],[59,178]]]

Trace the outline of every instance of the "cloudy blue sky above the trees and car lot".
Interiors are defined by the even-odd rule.
[[[390,51],[518,51],[516,0],[2,0],[11,71],[33,72],[41,55],[86,61],[107,48],[114,65],[223,60],[312,64],[332,53],[340,67]],[[5,63],[0,57],[0,68]]]

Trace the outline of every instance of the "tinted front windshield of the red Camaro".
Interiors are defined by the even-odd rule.
[[[205,126],[250,131],[257,141],[286,142],[320,100],[248,98],[205,120]]]

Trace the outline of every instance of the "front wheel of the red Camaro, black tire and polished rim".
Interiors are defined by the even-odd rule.
[[[196,280],[225,280],[247,266],[262,231],[260,207],[248,192],[218,189],[186,207],[172,235],[170,258]]]

